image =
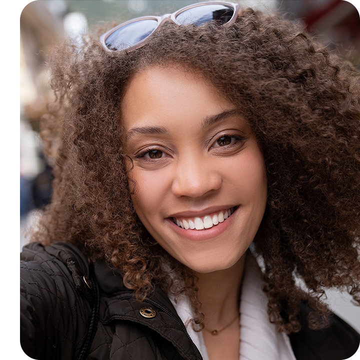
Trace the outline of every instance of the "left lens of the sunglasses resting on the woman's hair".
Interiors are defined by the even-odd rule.
[[[106,47],[110,50],[122,50],[131,47],[149,36],[156,26],[156,19],[140,19],[129,22],[106,37]]]

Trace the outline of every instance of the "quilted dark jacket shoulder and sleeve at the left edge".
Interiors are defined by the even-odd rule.
[[[40,359],[63,355],[71,358],[78,350],[91,311],[88,275],[86,258],[70,243],[43,246],[34,242],[23,247],[20,342],[27,355]],[[63,346],[54,347],[55,343]]]

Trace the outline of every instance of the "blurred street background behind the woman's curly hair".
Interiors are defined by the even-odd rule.
[[[51,98],[45,66],[49,48],[65,36],[76,38],[99,21],[118,23],[141,15],[173,12],[196,0],[35,0],[20,15],[20,249],[26,229],[51,196],[51,167],[38,137],[39,119]],[[278,11],[360,69],[360,18],[344,0],[243,0],[244,6]],[[329,291],[331,307],[360,332],[360,309]]]

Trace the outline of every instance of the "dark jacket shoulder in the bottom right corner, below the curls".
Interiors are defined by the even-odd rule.
[[[360,334],[340,317],[331,314],[327,327],[312,330],[307,323],[309,307],[301,303],[299,310],[302,328],[289,335],[297,360],[342,360],[356,352]]]

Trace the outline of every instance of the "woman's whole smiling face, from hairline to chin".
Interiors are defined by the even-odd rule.
[[[149,233],[197,272],[234,265],[267,188],[262,153],[235,105],[182,68],[154,66],[132,78],[121,115],[132,201]]]

